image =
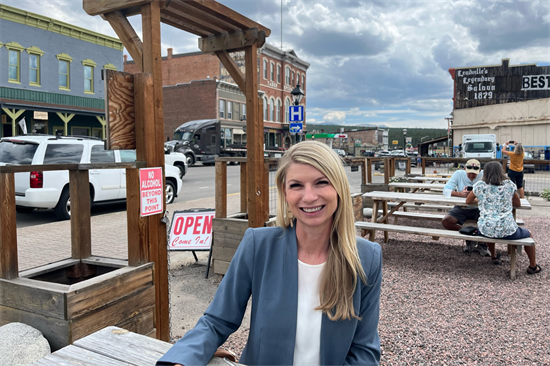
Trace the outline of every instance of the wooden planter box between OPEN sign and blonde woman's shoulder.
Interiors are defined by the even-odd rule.
[[[275,226],[275,218],[264,226]],[[248,229],[248,214],[239,213],[228,218],[212,220],[212,268],[214,273],[224,275]]]

